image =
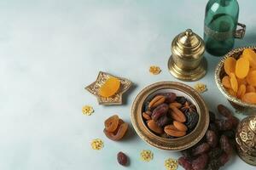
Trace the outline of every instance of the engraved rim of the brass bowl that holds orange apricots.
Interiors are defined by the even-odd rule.
[[[250,107],[253,109],[256,109],[256,105],[253,104],[248,104],[246,102],[241,101],[241,99],[238,99],[232,95],[230,95],[226,89],[224,88],[224,86],[221,83],[221,79],[220,79],[220,72],[222,71],[223,67],[224,67],[224,60],[232,57],[232,55],[236,54],[236,53],[240,53],[241,51],[243,51],[246,48],[252,48],[252,49],[256,49],[256,46],[247,46],[247,47],[241,47],[241,48],[234,48],[233,50],[231,50],[228,54],[225,54],[224,57],[218,62],[218,65],[216,66],[215,69],[215,82],[217,84],[218,89],[220,90],[220,92],[222,94],[224,94],[224,97],[227,98],[228,100],[230,100],[231,102],[235,103],[236,105],[240,105],[243,107]]]

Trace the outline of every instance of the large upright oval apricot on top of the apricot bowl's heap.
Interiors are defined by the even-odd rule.
[[[246,58],[240,58],[236,61],[236,77],[245,78],[250,69],[249,60]]]

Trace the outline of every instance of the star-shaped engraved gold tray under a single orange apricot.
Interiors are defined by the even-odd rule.
[[[122,77],[116,77],[119,79],[121,83],[119,91],[111,97],[104,98],[98,94],[98,91],[99,91],[99,88],[102,86],[102,84],[104,84],[109,77],[114,77],[114,76],[111,74],[108,74],[107,72],[100,71],[96,79],[96,82],[92,82],[85,89],[88,90],[90,94],[93,94],[96,96],[99,105],[122,105],[122,95],[129,88],[131,88],[132,82]]]

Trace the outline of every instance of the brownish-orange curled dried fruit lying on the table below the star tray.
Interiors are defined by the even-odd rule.
[[[122,139],[128,129],[128,123],[124,122],[122,119],[119,119],[119,116],[117,115],[110,116],[104,122],[104,125],[104,133],[108,139],[112,140]]]

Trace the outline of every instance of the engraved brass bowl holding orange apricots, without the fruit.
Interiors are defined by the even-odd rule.
[[[224,71],[224,60],[228,57],[233,57],[235,59],[238,59],[240,55],[242,54],[243,50],[245,48],[252,48],[256,52],[256,46],[251,47],[244,47],[244,48],[236,48],[230,51],[230,53],[225,54],[223,59],[220,60],[218,63],[216,70],[215,70],[215,82],[217,84],[218,89],[222,94],[224,94],[224,97],[230,101],[230,104],[237,110],[244,114],[255,114],[256,112],[256,105],[248,104],[241,99],[238,99],[232,95],[229,94],[229,92],[224,88],[224,86],[221,83],[221,80],[224,76],[226,76],[226,73]]]

